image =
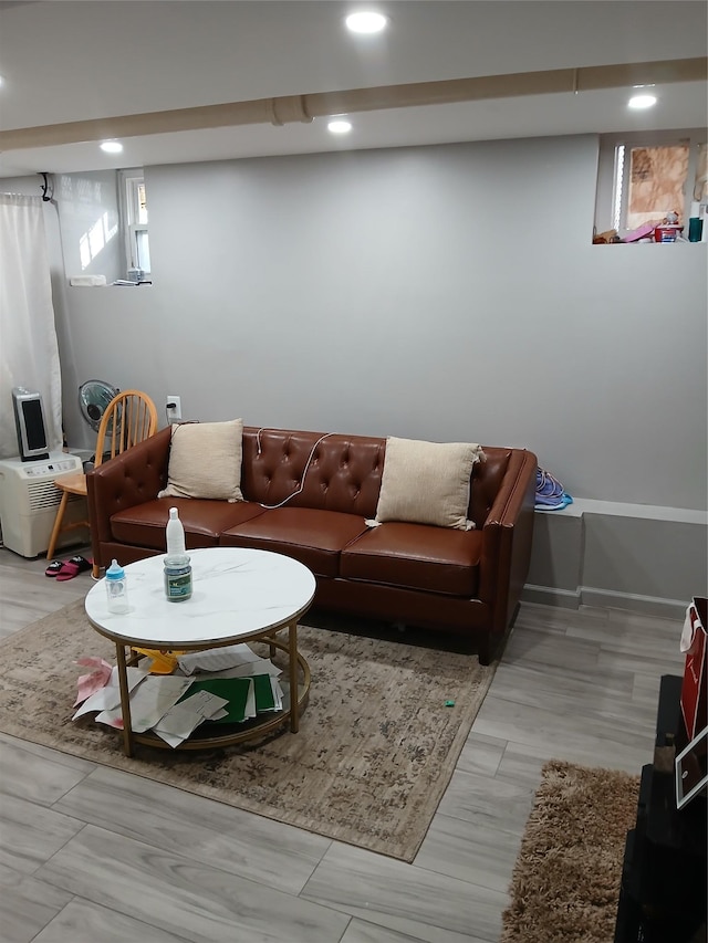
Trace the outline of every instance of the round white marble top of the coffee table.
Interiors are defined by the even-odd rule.
[[[114,641],[160,649],[231,645],[244,636],[289,625],[306,611],[315,580],[306,566],[270,551],[207,547],[188,552],[190,599],[168,603],[165,555],[125,567],[128,611],[108,612],[105,578],[86,595],[94,628]]]

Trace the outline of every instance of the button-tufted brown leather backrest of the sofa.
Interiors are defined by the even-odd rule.
[[[510,458],[509,449],[486,447],[485,452],[487,461],[472,472],[469,505],[478,527],[487,520]],[[247,501],[268,506],[287,501],[289,507],[374,517],[385,453],[382,438],[247,426],[241,490]]]

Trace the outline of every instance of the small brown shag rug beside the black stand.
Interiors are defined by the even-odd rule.
[[[611,943],[638,795],[638,776],[545,764],[500,943]]]

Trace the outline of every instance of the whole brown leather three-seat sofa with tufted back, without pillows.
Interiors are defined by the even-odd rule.
[[[475,530],[372,528],[365,521],[376,514],[386,440],[329,434],[316,444],[321,438],[246,427],[244,501],[228,503],[157,497],[169,460],[170,430],[163,429],[88,473],[94,559],[105,567],[113,557],[127,564],[165,553],[168,509],[176,506],[188,549],[238,546],[295,557],[316,577],[316,607],[468,637],[488,664],[529,569],[535,455],[483,447],[470,489]]]

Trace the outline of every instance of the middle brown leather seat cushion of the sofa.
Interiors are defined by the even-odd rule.
[[[275,507],[225,531],[225,547],[274,551],[303,563],[317,576],[340,575],[340,553],[366,531],[364,517],[311,507]]]

